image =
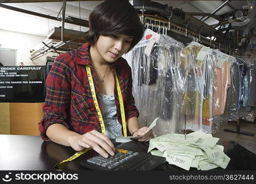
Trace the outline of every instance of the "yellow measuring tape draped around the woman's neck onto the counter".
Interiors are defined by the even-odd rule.
[[[100,127],[102,128],[102,134],[105,135],[106,134],[105,124],[104,124],[104,121],[103,121],[102,112],[100,112],[100,106],[98,105],[97,96],[96,96],[95,87],[94,87],[94,80],[92,79],[92,72],[90,71],[89,66],[86,66],[86,71],[87,71],[87,75],[88,75],[88,79],[89,79],[90,91],[92,93],[92,99],[94,99],[94,104],[95,104],[95,108],[96,108],[96,111],[97,111],[97,114],[98,114],[98,119],[100,120]],[[118,99],[119,99],[119,103],[120,103],[121,118],[122,118],[122,129],[124,131],[124,137],[127,137],[126,114],[124,112],[124,102],[122,101],[122,93],[121,93],[121,88],[120,88],[120,85],[119,85],[118,75],[116,74],[116,71],[114,71],[114,78],[116,80],[116,88],[118,90]],[[68,161],[72,161],[73,159],[78,158],[78,156],[86,153],[90,149],[92,149],[92,148],[86,148],[82,151],[79,151],[79,152],[75,153],[70,158],[65,159],[65,160],[61,161],[60,163],[56,164],[55,169],[63,169],[63,165],[65,163],[67,163]]]

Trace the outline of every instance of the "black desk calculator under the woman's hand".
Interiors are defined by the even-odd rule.
[[[97,154],[79,164],[96,171],[151,171],[165,162],[166,158],[161,156],[117,148],[114,156],[104,158]]]

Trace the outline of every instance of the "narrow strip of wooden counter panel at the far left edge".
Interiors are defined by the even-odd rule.
[[[0,134],[10,134],[9,103],[0,103]]]

